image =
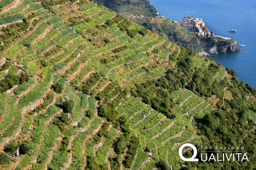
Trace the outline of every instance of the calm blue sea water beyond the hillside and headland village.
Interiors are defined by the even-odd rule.
[[[230,37],[246,46],[240,52],[212,57],[224,67],[234,69],[239,80],[256,88],[256,1],[238,0],[149,0],[163,16],[179,22],[185,16],[202,18],[216,35]],[[236,29],[236,33],[228,30]]]

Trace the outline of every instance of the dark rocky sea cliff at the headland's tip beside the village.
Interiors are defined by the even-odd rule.
[[[204,49],[210,55],[217,55],[217,54],[225,54],[227,52],[238,52],[241,51],[241,48],[238,46],[237,42],[233,40],[230,45],[226,46],[214,46],[211,48]]]

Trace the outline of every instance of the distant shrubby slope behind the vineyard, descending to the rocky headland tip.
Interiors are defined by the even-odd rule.
[[[240,47],[235,40],[218,40],[202,38],[184,29],[179,24],[168,18],[155,18],[158,15],[156,9],[149,1],[109,1],[96,0],[111,10],[128,17],[130,20],[154,31],[166,39],[179,43],[184,48],[192,48],[197,53],[210,55],[225,54],[227,52],[238,52]]]

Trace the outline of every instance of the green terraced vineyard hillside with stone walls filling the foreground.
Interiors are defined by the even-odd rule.
[[[179,169],[179,146],[205,141],[216,110],[248,107],[253,128],[256,91],[233,70],[105,7],[25,0],[5,9],[1,169]]]

